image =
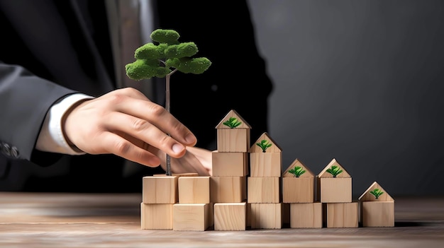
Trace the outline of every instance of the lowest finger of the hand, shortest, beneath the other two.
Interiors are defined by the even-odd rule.
[[[127,160],[149,167],[157,167],[160,165],[160,159],[155,155],[157,151],[153,150],[153,152],[150,152],[148,144],[145,145],[144,148],[141,148],[131,143],[131,141],[128,141],[128,139],[109,131],[101,134],[101,140],[108,144],[105,148],[107,153],[113,153]]]

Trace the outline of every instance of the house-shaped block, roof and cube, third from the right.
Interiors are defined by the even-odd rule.
[[[294,171],[296,175],[289,171]],[[300,173],[301,175],[299,175]],[[296,158],[282,173],[282,202],[312,203],[314,201],[314,179],[313,172]]]

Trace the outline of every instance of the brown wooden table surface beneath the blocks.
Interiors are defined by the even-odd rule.
[[[444,247],[444,196],[394,197],[395,227],[140,228],[141,194],[0,192],[0,247]]]

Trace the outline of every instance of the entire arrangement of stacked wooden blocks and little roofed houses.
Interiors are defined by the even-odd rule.
[[[175,231],[394,226],[394,199],[374,182],[352,201],[352,177],[333,158],[314,175],[299,159],[282,173],[282,150],[231,110],[216,126],[211,177],[143,177],[142,229]],[[297,172],[297,173],[296,173]]]

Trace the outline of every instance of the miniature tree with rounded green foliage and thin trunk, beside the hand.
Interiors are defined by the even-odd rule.
[[[135,81],[165,77],[165,109],[168,112],[170,112],[171,75],[176,71],[201,74],[211,66],[211,61],[206,57],[193,58],[198,52],[194,42],[179,42],[179,37],[179,33],[175,30],[157,29],[152,31],[150,38],[153,42],[135,49],[134,58],[136,60],[125,66],[126,75]],[[166,174],[172,175],[171,160],[168,154]]]

